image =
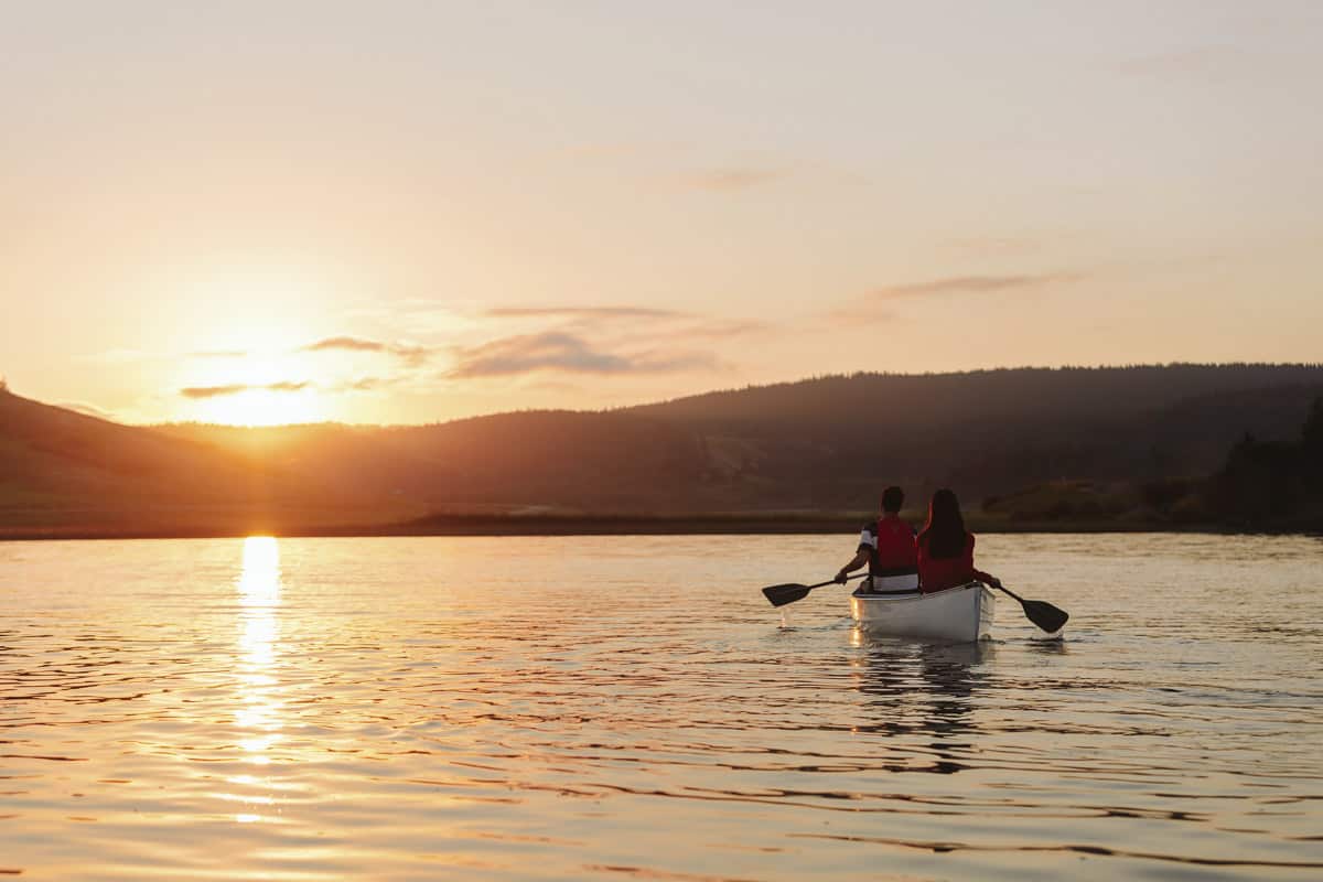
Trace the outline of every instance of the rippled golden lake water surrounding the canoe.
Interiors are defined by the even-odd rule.
[[[1323,875],[1323,542],[979,549],[1062,641],[767,606],[848,536],[0,543],[0,874]]]

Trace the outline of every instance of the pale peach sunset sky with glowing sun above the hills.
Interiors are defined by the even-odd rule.
[[[0,19],[0,376],[122,422],[1323,360],[1320,3]]]

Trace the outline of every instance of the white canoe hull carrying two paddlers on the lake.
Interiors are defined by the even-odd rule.
[[[943,643],[971,643],[991,635],[996,595],[982,582],[933,594],[896,590],[893,584],[878,587],[881,592],[859,590],[849,595],[849,614],[869,635]]]

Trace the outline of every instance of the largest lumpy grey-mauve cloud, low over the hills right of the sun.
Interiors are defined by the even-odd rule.
[[[712,369],[716,360],[706,353],[644,352],[618,354],[594,349],[570,333],[548,332],[504,337],[456,352],[451,380],[511,377],[538,370],[582,374],[644,374],[691,369]]]

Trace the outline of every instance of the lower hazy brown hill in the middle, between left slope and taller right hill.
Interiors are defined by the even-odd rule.
[[[431,508],[683,509],[703,489],[701,439],[623,413],[524,411],[433,426],[167,426],[356,495]]]

